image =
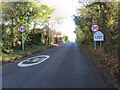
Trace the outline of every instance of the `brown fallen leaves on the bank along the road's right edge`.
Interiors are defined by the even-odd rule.
[[[81,47],[102,72],[108,85],[112,88],[120,89],[118,59],[99,49],[94,51],[93,48],[88,45],[81,45]]]

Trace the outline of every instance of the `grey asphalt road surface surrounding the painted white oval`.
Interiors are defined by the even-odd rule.
[[[29,67],[18,67],[19,62],[4,66],[3,88],[105,88],[99,71],[76,43],[65,43],[37,55],[50,58]]]

